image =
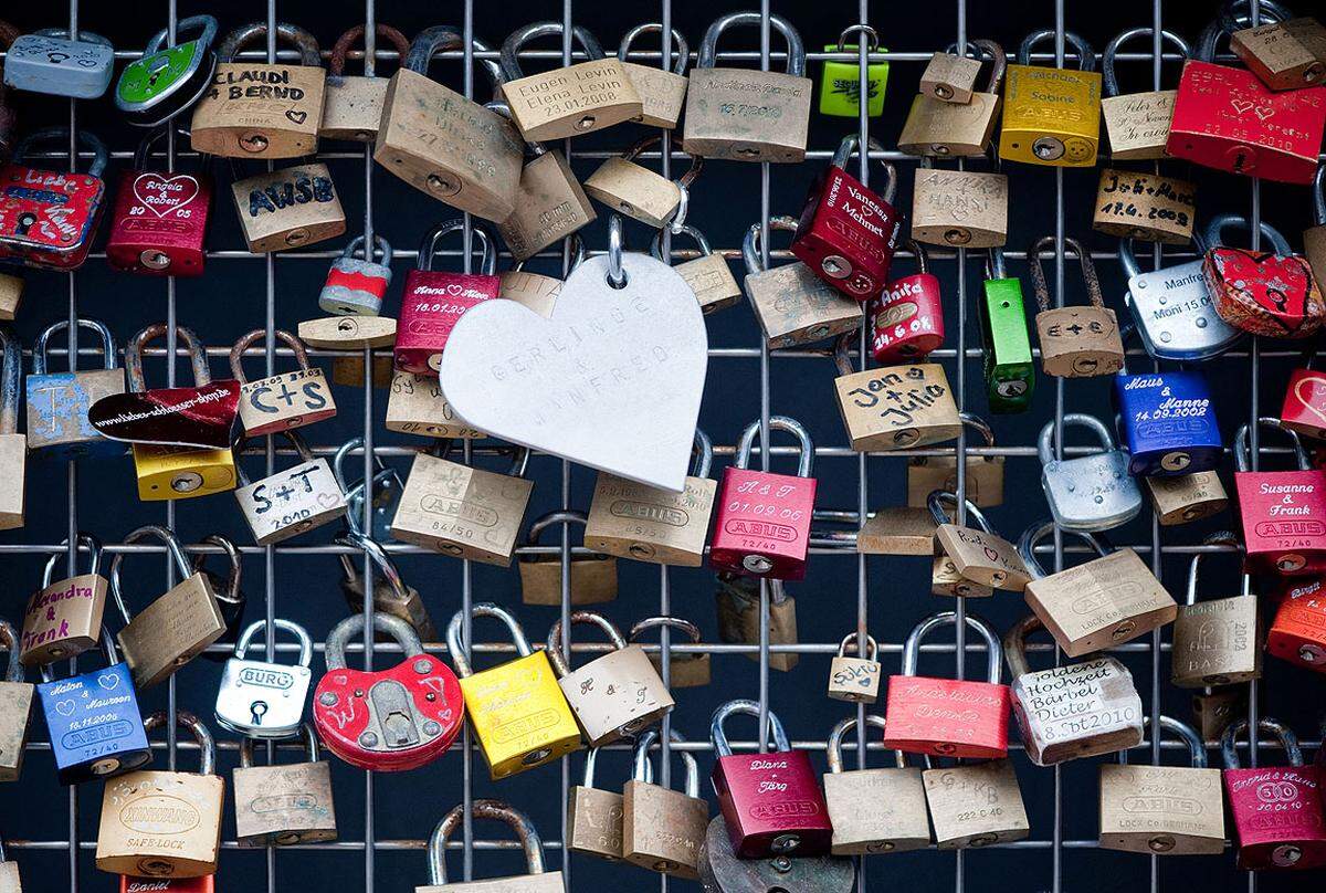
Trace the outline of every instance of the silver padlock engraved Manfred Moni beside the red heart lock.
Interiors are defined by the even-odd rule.
[[[1269,227],[1261,226],[1265,234]],[[1119,263],[1128,277],[1123,303],[1132,312],[1142,346],[1155,360],[1209,360],[1244,337],[1216,313],[1201,272],[1207,241],[1200,232],[1193,232],[1192,241],[1199,260],[1142,272],[1132,239],[1119,239]]]

